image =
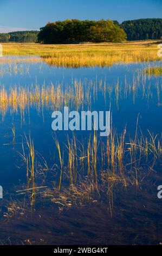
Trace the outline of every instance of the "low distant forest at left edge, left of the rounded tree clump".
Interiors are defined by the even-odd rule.
[[[0,33],[0,42],[36,42],[38,31]]]

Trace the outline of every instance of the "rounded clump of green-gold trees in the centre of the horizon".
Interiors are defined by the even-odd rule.
[[[43,44],[122,42],[126,38],[124,30],[111,20],[48,22],[38,33],[38,42]]]

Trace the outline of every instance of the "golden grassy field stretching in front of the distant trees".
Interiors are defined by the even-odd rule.
[[[160,60],[158,41],[135,41],[125,44],[3,44],[4,55],[41,56],[49,65],[110,66],[114,63],[131,63]],[[32,59],[31,59],[32,60]],[[8,60],[9,61],[9,60]]]

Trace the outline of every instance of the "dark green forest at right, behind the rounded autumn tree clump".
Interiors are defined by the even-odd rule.
[[[127,34],[128,40],[161,39],[162,19],[140,19],[124,21],[121,27]]]

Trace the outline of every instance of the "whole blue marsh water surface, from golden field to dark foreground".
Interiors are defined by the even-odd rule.
[[[125,131],[126,142],[134,136],[161,136],[161,76],[148,76],[145,72],[150,67],[161,66],[161,62],[66,68],[50,66],[38,58],[34,61],[34,57],[7,56],[0,66],[2,244],[159,244],[162,242],[162,199],[157,197],[157,187],[162,185],[161,157],[153,164],[152,152],[147,161],[141,157],[137,163],[138,186],[124,186],[120,181],[113,183],[111,203],[109,193],[103,190],[93,191],[92,200],[70,202],[69,207],[63,208],[46,198],[41,200],[40,194],[58,186],[60,162],[55,139],[60,143],[64,165],[68,167],[67,138],[75,136],[84,151],[89,136],[93,137],[94,131],[54,132],[51,129],[51,114],[62,111],[63,106],[79,112],[111,111],[111,129],[119,137]],[[55,102],[50,98],[48,88],[51,86],[57,94]],[[49,97],[42,96],[42,88],[45,88],[43,92],[47,88]],[[24,100],[22,106],[18,99],[22,94],[13,97],[13,90],[22,92],[22,89],[27,97],[35,93],[35,98],[39,91],[41,101]],[[8,95],[7,103],[6,99],[2,100],[2,91]],[[23,152],[28,155],[25,136],[29,135],[34,140],[36,155],[35,186],[42,187],[37,191],[32,209],[25,204],[28,201],[24,192],[27,168],[22,159]],[[98,141],[106,143],[107,138],[101,138],[99,132],[97,136]],[[99,146],[99,155],[101,150]],[[86,154],[82,153],[81,157],[86,158]],[[105,172],[106,164],[101,161],[99,156],[98,169],[102,165]],[[130,162],[126,160],[126,166]],[[77,173],[86,177],[86,167],[78,168]],[[67,183],[65,179],[65,187]],[[20,204],[21,210],[10,211],[12,203]]]

